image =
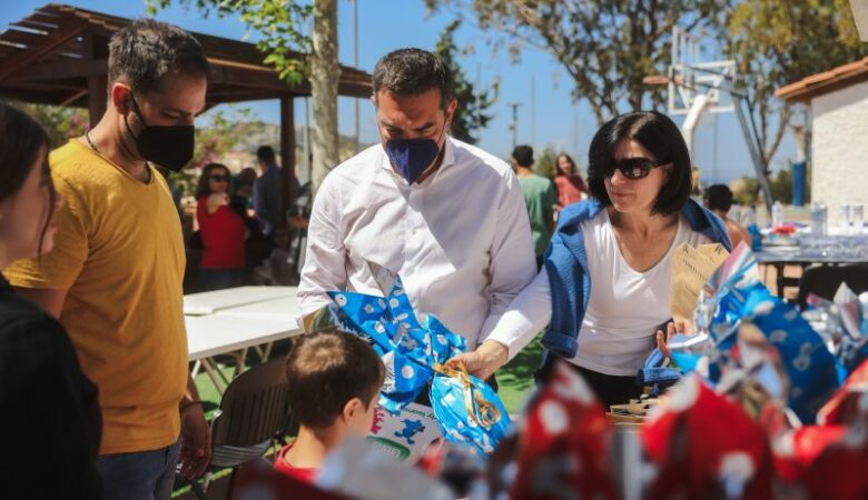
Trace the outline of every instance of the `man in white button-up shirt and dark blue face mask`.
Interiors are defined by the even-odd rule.
[[[536,274],[519,182],[504,161],[446,133],[457,102],[443,61],[401,49],[374,68],[381,143],[335,168],[314,201],[298,299],[377,293],[367,261],[401,274],[417,313],[467,339],[474,357],[506,361],[486,340]]]

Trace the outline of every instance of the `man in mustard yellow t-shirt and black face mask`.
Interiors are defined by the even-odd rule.
[[[178,462],[193,478],[209,461],[187,373],[180,222],[154,168],[193,157],[207,73],[201,47],[176,27],[142,20],[118,31],[106,113],[50,157],[66,199],[55,249],[6,271],[60,318],[99,388],[103,499],[168,499]]]

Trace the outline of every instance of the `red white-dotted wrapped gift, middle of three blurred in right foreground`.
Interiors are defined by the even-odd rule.
[[[762,428],[696,376],[670,390],[641,433],[657,468],[648,500],[768,499],[771,451]]]

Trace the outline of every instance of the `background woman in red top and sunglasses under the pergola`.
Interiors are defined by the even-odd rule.
[[[229,169],[208,163],[196,189],[196,221],[205,252],[199,263],[199,282],[205,290],[244,284],[246,228],[229,206]]]

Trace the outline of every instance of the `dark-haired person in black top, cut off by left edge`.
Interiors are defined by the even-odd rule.
[[[53,247],[62,199],[48,150],[45,130],[0,102],[0,269]],[[0,432],[0,498],[99,498],[97,388],[81,372],[63,327],[17,297],[2,276]]]

